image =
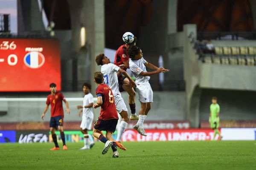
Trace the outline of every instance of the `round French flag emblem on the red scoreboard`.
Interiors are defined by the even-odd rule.
[[[44,55],[40,52],[29,52],[24,57],[24,63],[29,68],[39,68],[44,65]]]

